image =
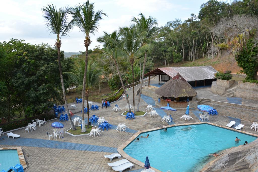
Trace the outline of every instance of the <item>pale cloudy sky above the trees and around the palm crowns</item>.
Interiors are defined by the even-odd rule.
[[[108,18],[100,22],[99,32],[91,35],[90,49],[95,48],[98,36],[103,31],[112,32],[118,27],[128,26],[132,16],[142,12],[146,16],[154,16],[159,26],[167,21],[180,18],[186,20],[191,13],[198,15],[201,4],[207,0],[95,0],[96,10],[103,10]],[[49,3],[55,6],[75,6],[85,1],[71,0],[8,0],[0,1],[0,42],[10,38],[23,39],[26,43],[49,43],[54,45],[55,36],[45,28],[45,20],[41,8]],[[61,50],[66,52],[85,51],[84,34],[75,27],[69,37],[62,38]]]

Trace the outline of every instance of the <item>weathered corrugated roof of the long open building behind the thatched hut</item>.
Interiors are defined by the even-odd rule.
[[[160,75],[168,75],[170,79],[170,78],[173,78],[178,72],[184,79],[186,79],[186,81],[197,81],[197,80],[207,80],[207,79],[214,80],[214,74],[217,71],[211,66],[170,67],[170,68],[154,69],[144,74],[144,76],[158,75],[159,81],[160,81]]]

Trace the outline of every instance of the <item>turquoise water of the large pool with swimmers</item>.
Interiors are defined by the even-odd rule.
[[[149,134],[149,138],[141,138]],[[235,142],[238,137],[241,141]],[[139,135],[124,151],[145,163],[148,155],[151,167],[161,171],[198,171],[208,162],[210,153],[254,141],[256,137],[208,124],[187,125],[156,130]]]

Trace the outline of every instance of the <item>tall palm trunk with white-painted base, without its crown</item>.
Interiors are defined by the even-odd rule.
[[[85,101],[85,90],[86,90],[86,75],[87,75],[87,68],[88,68],[88,47],[89,47],[89,45],[90,45],[90,38],[86,37],[84,40],[85,68],[84,68],[83,87],[82,87],[82,133],[86,132],[85,121],[84,121],[84,101]],[[87,101],[87,114],[89,116],[88,95],[87,94],[86,94],[86,101]],[[88,118],[88,125],[89,125],[89,118]]]

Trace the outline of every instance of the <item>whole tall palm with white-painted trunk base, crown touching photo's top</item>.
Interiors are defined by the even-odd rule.
[[[99,21],[102,20],[102,16],[107,14],[103,13],[101,10],[94,11],[94,3],[90,3],[90,1],[86,1],[84,4],[79,4],[75,8],[72,9],[72,15],[74,20],[76,21],[76,26],[80,29],[80,31],[84,32],[85,40],[85,69],[84,69],[84,77],[83,77],[83,88],[82,88],[82,132],[86,131],[85,122],[84,122],[84,95],[85,95],[85,85],[86,83],[86,73],[88,66],[88,47],[91,44],[89,34],[95,34],[98,30]],[[86,93],[86,102],[87,108],[89,109],[88,102],[88,94]],[[88,127],[89,127],[89,111],[88,114]]]

